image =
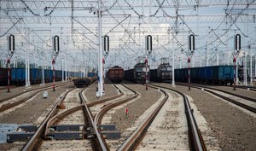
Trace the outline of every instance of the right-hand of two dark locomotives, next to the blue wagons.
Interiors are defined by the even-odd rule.
[[[172,80],[172,66],[169,63],[162,63],[157,69],[150,69],[150,80],[170,83]]]

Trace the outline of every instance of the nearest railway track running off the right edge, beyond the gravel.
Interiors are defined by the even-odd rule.
[[[183,85],[183,84],[181,84],[181,85]],[[202,85],[191,85],[191,87],[193,87],[195,89],[199,89],[199,90],[205,90],[214,96],[218,96],[228,102],[236,104],[239,107],[245,108],[248,111],[256,113],[256,103],[255,103],[256,99],[255,98],[241,96],[241,95],[238,95],[235,93],[230,93],[225,90],[219,90],[216,88],[211,88],[211,87],[202,86]],[[227,95],[225,95],[225,94],[227,94]]]

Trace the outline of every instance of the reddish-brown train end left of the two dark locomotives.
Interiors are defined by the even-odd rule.
[[[108,69],[106,76],[113,83],[119,84],[124,78],[124,68],[119,66],[111,67],[110,69]]]

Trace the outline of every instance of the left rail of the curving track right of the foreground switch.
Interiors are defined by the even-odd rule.
[[[154,86],[148,85],[148,87],[158,89]],[[148,115],[147,119],[144,119],[143,124],[140,125],[137,130],[131,134],[131,136],[122,144],[122,146],[118,149],[119,151],[123,150],[135,150],[137,145],[142,141],[143,136],[148,131],[148,127],[152,124],[157,114],[160,112],[161,107],[164,106],[169,95],[165,90],[160,89],[160,91],[165,95],[164,99],[160,102],[158,107],[155,107],[154,111]]]

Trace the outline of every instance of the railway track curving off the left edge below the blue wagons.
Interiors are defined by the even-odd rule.
[[[70,83],[68,83],[68,84],[70,84]],[[65,86],[65,85],[67,85],[67,84],[58,84],[58,85],[55,86],[55,88]],[[8,110],[12,107],[16,107],[16,106],[20,105],[21,103],[28,101],[33,96],[38,95],[38,93],[40,93],[44,90],[49,90],[49,89],[51,89],[51,86],[48,86],[48,87],[45,87],[45,88],[38,88],[38,89],[34,89],[34,90],[29,90],[29,91],[17,94],[15,96],[11,96],[11,97],[2,99],[2,100],[0,100],[0,104],[2,104],[1,107],[0,107],[0,113],[2,113],[3,111],[6,111],[6,110]],[[29,92],[32,92],[32,91],[35,91],[35,92],[32,93],[32,94],[28,94]],[[19,96],[22,96],[22,95],[25,95],[25,94],[27,94],[25,97],[19,99]],[[18,98],[18,100],[16,100],[15,98]]]

